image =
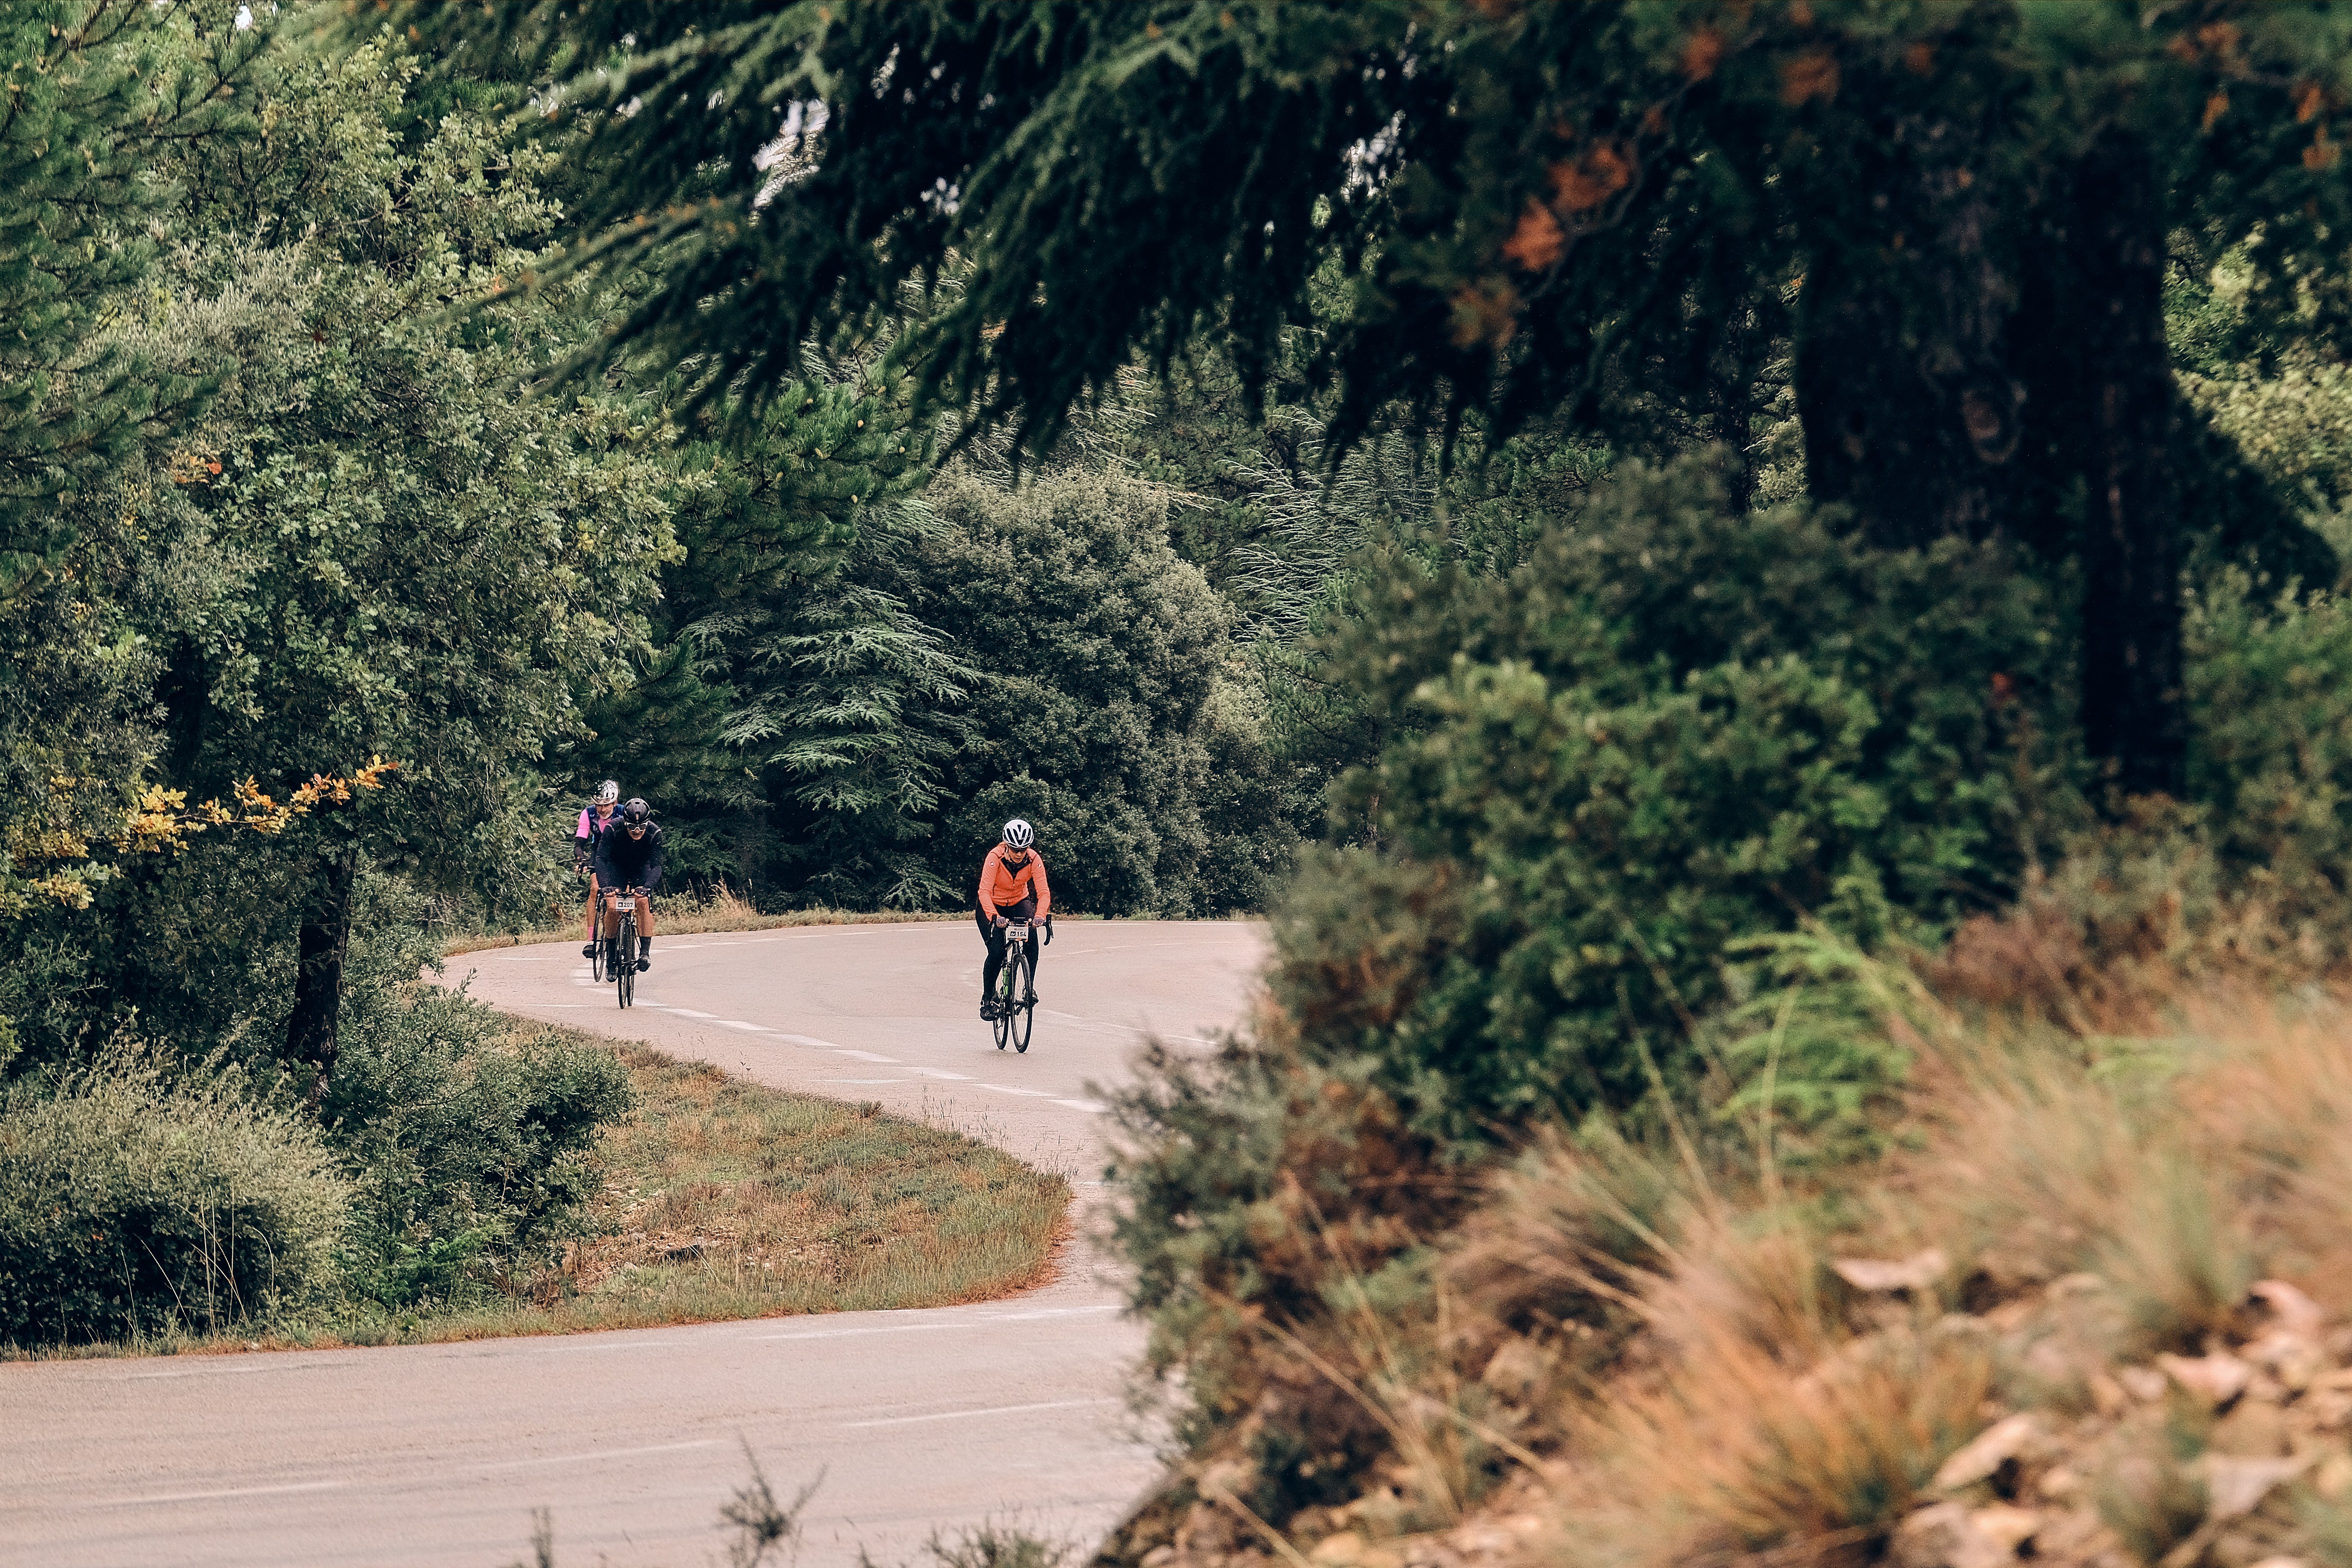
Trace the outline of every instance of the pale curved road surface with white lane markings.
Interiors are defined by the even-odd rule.
[[[969,924],[802,926],[654,945],[633,1013],[579,947],[452,959],[527,1018],[762,1084],[948,1119],[1080,1185],[1089,1081],[1157,1032],[1240,1020],[1244,922],[1070,922],[1037,1041],[997,1053]],[[910,1559],[1018,1519],[1094,1540],[1152,1476],[1122,1403],[1141,1331],[1084,1258],[978,1307],[844,1312],[473,1345],[0,1366],[0,1563],[503,1568],[553,1512],[564,1568],[717,1561],[746,1446],[781,1497],[818,1476],[802,1563]]]

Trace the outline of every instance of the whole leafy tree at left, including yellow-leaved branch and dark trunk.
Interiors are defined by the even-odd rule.
[[[463,110],[407,125],[409,75],[381,47],[266,49],[240,87],[254,118],[155,165],[174,244],[111,331],[212,400],[141,428],[59,510],[59,567],[0,609],[28,651],[0,724],[38,806],[9,856],[54,872],[52,905],[96,896],[35,922],[73,985],[0,1004],[45,1013],[49,1058],[134,1011],[195,1053],[268,1048],[294,1006],[308,1027],[285,1037],[325,1065],[320,954],[362,872],[534,914],[555,889],[534,773],[640,646],[673,555],[663,468],[621,400],[527,395],[593,301],[452,317],[529,266],[553,158]],[[372,757],[400,764],[393,788],[278,837],[214,835],[176,865],[103,844],[155,773],[285,799]],[[313,961],[289,976],[296,933]]]

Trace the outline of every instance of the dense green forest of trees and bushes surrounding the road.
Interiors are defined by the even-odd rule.
[[[1025,816],[1272,919],[1122,1246],[1275,1523],[1402,1439],[1240,1324],[1331,1237],[1425,1309],[1536,1128],[1884,1150],[1853,978],[2018,910],[2352,959],[2340,9],[263,9],[0,24],[0,1093],[275,1084],[369,1288],[612,1114],[550,1048],[503,1152],[381,1133],[489,1093],[402,985],[604,776],[762,910]]]

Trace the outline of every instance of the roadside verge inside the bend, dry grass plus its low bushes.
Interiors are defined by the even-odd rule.
[[[376,1023],[341,1093],[400,1105],[350,1135],[240,1074],[0,1103],[0,1356],[938,1307],[1035,1284],[1063,1232],[1063,1178],[870,1103],[423,987]],[[56,1225],[33,1199],[66,1190]]]

